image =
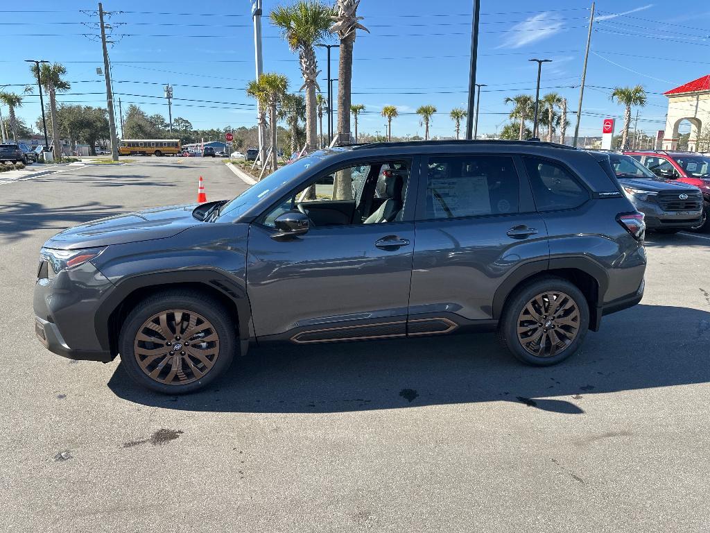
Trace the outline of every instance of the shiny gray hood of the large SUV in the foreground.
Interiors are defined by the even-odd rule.
[[[204,224],[192,216],[196,206],[170,205],[94,220],[58,233],[45,242],[45,247],[91,248],[173,237],[188,227]]]

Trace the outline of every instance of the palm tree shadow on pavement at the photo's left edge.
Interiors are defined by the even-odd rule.
[[[106,205],[87,202],[48,208],[37,202],[13,202],[0,204],[0,239],[17,241],[31,237],[36,230],[63,230],[66,227],[119,215],[126,212],[122,205]]]

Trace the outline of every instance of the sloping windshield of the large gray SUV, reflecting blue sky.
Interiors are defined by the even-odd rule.
[[[307,171],[307,169],[315,165],[315,163],[322,161],[324,157],[322,153],[319,155],[314,154],[312,156],[302,157],[293,161],[293,163],[282,166],[273,174],[251,185],[250,188],[234,198],[234,200],[230,200],[228,203],[224,204],[222,209],[219,210],[218,220],[222,222],[236,219],[253,205],[271,196],[271,193],[275,190],[283,188],[283,192],[285,193],[290,188],[288,184],[294,178],[300,176],[301,173]],[[273,198],[273,200],[276,199],[275,197]]]

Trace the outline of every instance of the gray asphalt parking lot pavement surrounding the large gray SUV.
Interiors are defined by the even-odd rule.
[[[246,188],[202,158],[0,186],[1,531],[708,529],[710,235],[650,235],[642,303],[557,367],[490,334],[253,348],[207,391],[165,397],[119,360],[45,350],[45,239],[192,202],[200,175],[209,200]]]

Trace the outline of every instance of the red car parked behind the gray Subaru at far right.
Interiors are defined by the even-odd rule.
[[[646,166],[665,181],[695,185],[703,193],[704,223],[699,231],[710,230],[710,157],[694,152],[667,150],[626,151],[627,156]]]

